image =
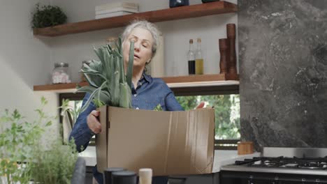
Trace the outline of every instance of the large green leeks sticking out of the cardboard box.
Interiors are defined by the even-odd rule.
[[[84,64],[80,72],[85,75],[89,86],[77,86],[77,92],[90,93],[89,100],[85,102],[81,112],[94,102],[96,107],[110,105],[114,107],[131,108],[131,78],[133,74],[134,43],[131,42],[129,50],[129,64],[127,74],[124,73],[122,56],[122,40],[119,38],[117,47],[110,45],[94,48],[100,61],[92,60]]]

